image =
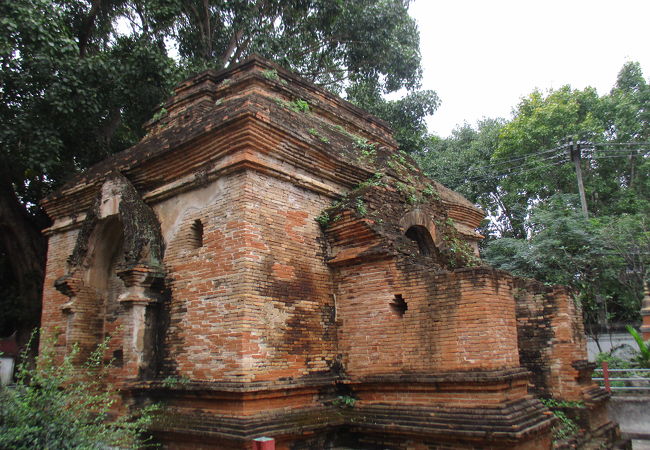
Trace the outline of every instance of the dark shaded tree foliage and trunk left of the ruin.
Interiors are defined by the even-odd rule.
[[[27,336],[40,316],[40,288],[28,286],[42,286],[45,242],[34,236],[49,219],[39,201],[140,139],[177,74],[155,35],[115,31],[125,2],[101,5],[0,2],[0,259],[9,269],[0,285],[15,293],[0,301],[3,311],[31,311],[9,316],[3,335]]]

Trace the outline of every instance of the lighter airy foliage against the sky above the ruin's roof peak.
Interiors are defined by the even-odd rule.
[[[421,76],[419,35],[408,2],[270,0],[264,3],[145,4],[150,22],[169,31],[183,60],[196,69],[227,67],[253,53],[309,80],[338,89],[350,78],[372,79],[391,92]]]

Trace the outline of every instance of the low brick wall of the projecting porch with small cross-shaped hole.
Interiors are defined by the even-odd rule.
[[[340,351],[352,376],[493,370],[519,365],[510,277],[491,269],[439,275],[395,259],[342,267]],[[390,306],[399,294],[400,317]]]

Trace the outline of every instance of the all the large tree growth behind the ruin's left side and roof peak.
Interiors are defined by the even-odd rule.
[[[19,330],[24,340],[38,323],[48,226],[38,201],[137,142],[155,106],[192,72],[258,53],[373,109],[405,149],[417,147],[437,98],[417,91],[408,3],[0,2],[0,335]],[[404,100],[383,99],[403,88]]]

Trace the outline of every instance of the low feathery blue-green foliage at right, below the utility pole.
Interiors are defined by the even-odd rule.
[[[585,219],[575,196],[557,195],[533,208],[528,220],[530,238],[492,240],[483,249],[484,260],[519,276],[573,288],[588,330],[599,321],[602,304],[610,319],[636,320],[650,246],[647,234],[635,231],[643,217]],[[636,274],[630,273],[632,267]]]

